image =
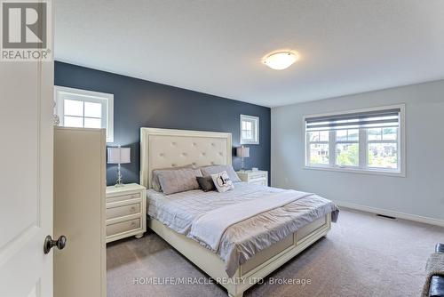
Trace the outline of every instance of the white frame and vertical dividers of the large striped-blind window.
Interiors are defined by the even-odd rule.
[[[397,140],[382,140],[381,142],[393,143],[396,142],[398,144],[398,169],[386,169],[386,168],[378,168],[378,167],[370,167],[368,166],[368,150],[369,143],[374,143],[374,140],[368,140],[368,130],[367,129],[359,129],[359,166],[350,166],[350,165],[336,165],[336,145],[337,143],[349,143],[353,141],[338,141],[336,139],[336,131],[329,131],[329,165],[311,165],[310,162],[310,141],[309,136],[306,131],[305,120],[311,117],[318,116],[335,116],[335,115],[346,115],[360,112],[369,112],[376,111],[382,109],[392,109],[392,108],[400,108],[400,120],[399,120],[399,130],[398,130],[398,139]],[[406,160],[407,160],[407,151],[406,151],[406,125],[405,125],[405,108],[406,105],[404,103],[389,105],[389,106],[378,106],[373,108],[360,108],[353,110],[345,110],[345,111],[336,111],[329,112],[324,114],[314,114],[303,116],[303,135],[305,135],[305,159],[303,161],[304,167],[303,169],[307,170],[324,170],[324,171],[333,171],[333,172],[343,172],[343,173],[364,173],[364,174],[379,174],[379,175],[389,175],[389,176],[397,176],[397,177],[406,177]],[[356,128],[355,128],[356,129]],[[350,130],[353,130],[350,129]],[[313,143],[313,142],[312,142]],[[364,148],[364,149],[361,149]],[[333,154],[332,154],[333,153]]]

